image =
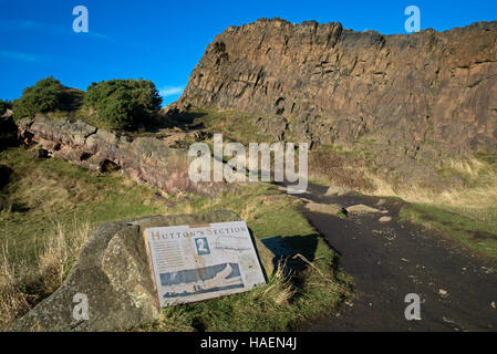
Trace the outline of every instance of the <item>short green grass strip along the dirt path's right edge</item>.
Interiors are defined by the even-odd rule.
[[[497,208],[475,211],[411,204],[402,208],[400,216],[443,231],[479,254],[497,258]]]

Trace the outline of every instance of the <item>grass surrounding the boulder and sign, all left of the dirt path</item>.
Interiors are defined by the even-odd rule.
[[[55,247],[55,250],[53,244],[46,247],[51,244],[50,240],[71,238],[74,233],[58,232],[58,228],[74,231],[74,226],[89,222],[89,228],[93,229],[105,221],[213,208],[238,212],[248,221],[256,237],[284,238],[288,247],[302,253],[319,271],[306,267],[303,261],[293,261],[292,274],[278,272],[266,287],[244,294],[165,309],[161,321],[135,330],[283,331],[303,319],[330,313],[345,298],[338,284],[349,288],[351,279],[336,268],[336,254],[300,215],[300,202],[269,185],[244,184],[235,192],[215,199],[172,196],[167,204],[175,206],[166,209],[165,200],[153,201],[154,188],[137,186],[117,174],[93,173],[59,158],[34,159],[32,155],[33,150],[23,148],[0,153],[0,164],[14,171],[11,183],[2,191],[12,204],[10,210],[0,214],[0,246],[6,250],[8,244],[6,253],[10,259],[2,269],[25,262],[37,268],[29,271],[28,280],[23,278],[25,268],[20,268],[20,271],[9,270],[15,279],[6,282],[4,289],[0,282],[0,306],[18,303],[19,310],[12,311],[15,316],[49,295],[68,273],[68,266],[60,269],[56,264],[55,277],[48,278],[43,273],[45,268],[41,267],[48,258],[54,258],[52,254],[60,253],[61,247]],[[65,249],[77,248],[63,247],[63,252]],[[73,256],[66,258],[72,260]],[[32,283],[33,278],[34,289],[27,283]],[[7,295],[10,301],[6,301]],[[29,304],[27,301],[19,304],[21,301],[15,296],[28,299]],[[9,319],[0,316],[0,320]]]

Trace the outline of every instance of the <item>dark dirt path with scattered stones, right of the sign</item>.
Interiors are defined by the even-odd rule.
[[[343,207],[363,204],[389,214],[340,219],[306,211],[340,254],[340,266],[355,278],[356,298],[332,319],[299,331],[497,331],[497,266],[470,254],[437,232],[403,222],[400,201],[366,196],[324,197],[310,186],[303,198]],[[380,222],[382,216],[392,221]],[[445,293],[446,292],[446,293]],[[421,321],[407,321],[404,298],[422,299]]]

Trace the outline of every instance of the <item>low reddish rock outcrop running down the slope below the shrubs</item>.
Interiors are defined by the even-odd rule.
[[[93,170],[121,169],[137,183],[168,192],[215,195],[225,187],[221,183],[193,183],[187,153],[159,138],[132,138],[81,121],[52,121],[42,115],[20,119],[18,126],[22,139],[42,145],[51,156]]]

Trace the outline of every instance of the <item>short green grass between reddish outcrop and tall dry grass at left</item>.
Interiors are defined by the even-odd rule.
[[[118,174],[86,170],[60,158],[35,159],[33,149],[10,148],[0,164],[13,174],[2,194],[11,207],[0,212],[0,246],[15,257],[32,258],[56,223],[99,223],[161,214],[154,188],[138,186]]]

